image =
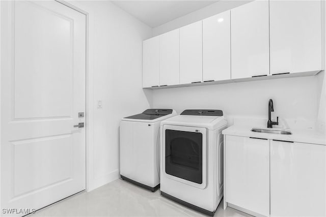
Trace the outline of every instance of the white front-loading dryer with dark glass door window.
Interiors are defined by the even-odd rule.
[[[221,110],[184,110],[161,122],[160,193],[213,216],[223,197]]]

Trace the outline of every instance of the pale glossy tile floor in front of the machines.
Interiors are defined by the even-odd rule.
[[[122,179],[43,208],[37,216],[207,216]],[[214,216],[251,216],[220,203]]]

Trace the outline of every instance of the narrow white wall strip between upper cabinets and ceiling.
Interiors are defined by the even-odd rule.
[[[214,4],[211,4],[207,7],[204,7],[200,10],[194,11],[192,13],[186,14],[182,17],[174,19],[170,22],[162,24],[153,28],[153,36],[157,36],[170,30],[180,28],[181,26],[185,26],[191,24],[193,22],[205,19],[207,17],[213,16],[215,14],[219,14],[221,12],[230,10],[232,8],[236,8],[240,5],[252,2],[253,0],[221,0]]]

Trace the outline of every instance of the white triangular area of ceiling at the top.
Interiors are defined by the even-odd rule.
[[[154,28],[218,1],[111,1],[116,6]]]

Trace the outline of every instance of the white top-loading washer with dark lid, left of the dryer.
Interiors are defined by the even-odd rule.
[[[159,187],[160,122],[177,113],[147,109],[120,121],[120,176],[154,192]]]

